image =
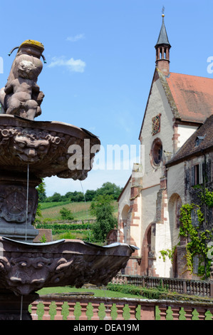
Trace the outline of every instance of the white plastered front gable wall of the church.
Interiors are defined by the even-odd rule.
[[[160,133],[152,135],[152,118],[157,114],[161,114],[160,117]],[[150,151],[152,148],[152,142],[155,138],[160,138],[162,141],[162,148],[167,153],[173,153],[173,141],[172,137],[174,134],[173,130],[173,114],[170,105],[165,96],[165,91],[162,88],[160,79],[152,84],[152,91],[147,104],[147,110],[145,120],[142,127],[142,144],[145,149],[145,173],[142,177],[142,230],[143,236],[150,223],[156,221],[156,200],[157,192],[160,190],[160,177],[163,175],[162,163],[159,167],[153,168],[150,163]],[[165,210],[165,209],[164,209]],[[164,217],[167,217],[165,210]],[[162,249],[170,247],[170,230],[168,230],[168,223],[165,221],[156,224],[155,231],[155,256],[154,267],[161,277],[169,277],[170,264],[162,262],[159,258],[159,252]],[[170,262],[169,262],[170,263]]]

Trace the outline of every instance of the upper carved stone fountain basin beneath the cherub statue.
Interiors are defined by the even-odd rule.
[[[84,180],[100,140],[82,128],[0,114],[0,169],[36,178],[57,175]]]

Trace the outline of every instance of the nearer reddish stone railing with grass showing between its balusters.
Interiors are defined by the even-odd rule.
[[[213,302],[49,295],[33,301],[30,312],[33,320],[204,320],[213,319]]]

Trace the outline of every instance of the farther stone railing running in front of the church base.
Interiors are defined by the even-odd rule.
[[[113,284],[127,284],[147,287],[165,287],[171,292],[192,294],[201,297],[213,297],[213,282],[191,279],[161,278],[145,276],[118,275],[112,280]]]

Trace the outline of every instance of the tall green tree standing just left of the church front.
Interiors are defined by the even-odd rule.
[[[99,195],[90,205],[91,214],[95,215],[93,236],[96,241],[105,242],[108,232],[117,227],[117,219],[113,215],[113,197],[111,195]]]

